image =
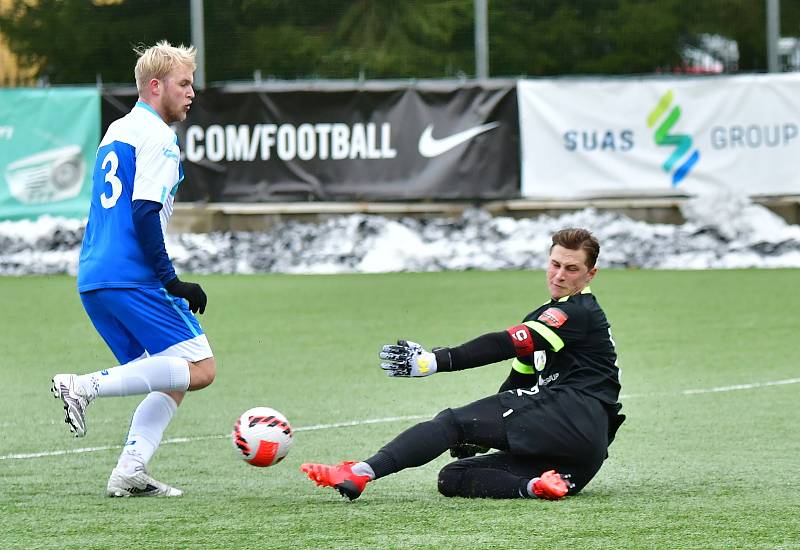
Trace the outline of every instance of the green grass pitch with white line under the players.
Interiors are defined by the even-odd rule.
[[[189,277],[187,277],[189,278]],[[195,277],[218,377],[181,405],[151,463],[181,499],[103,496],[140,398],[102,399],[74,439],[56,372],[114,360],[68,277],[0,278],[0,548],[797,548],[796,270],[601,271],[628,421],[598,476],[558,502],[447,499],[443,456],[346,502],[298,471],[370,456],[439,410],[497,387],[507,365],[389,379],[398,337],[455,345],[518,322],[541,272]],[[260,469],[227,434],[256,405],[294,448]],[[391,420],[391,418],[399,419]],[[352,423],[352,425],[342,425]]]

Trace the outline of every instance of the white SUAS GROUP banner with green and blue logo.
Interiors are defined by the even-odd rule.
[[[522,195],[800,195],[800,74],[521,80]]]

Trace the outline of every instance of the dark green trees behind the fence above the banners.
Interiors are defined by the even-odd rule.
[[[132,47],[191,41],[188,0],[16,0],[0,33],[53,84],[131,83]],[[473,0],[206,0],[206,80],[474,74]],[[703,34],[766,69],[765,0],[490,0],[492,76],[648,74]],[[800,35],[800,2],[781,2]]]

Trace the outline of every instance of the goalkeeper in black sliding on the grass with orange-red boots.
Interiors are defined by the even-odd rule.
[[[400,340],[383,346],[389,376],[421,377],[513,359],[500,391],[404,431],[362,462],[303,464],[319,486],[350,500],[366,484],[421,466],[448,449],[439,492],[467,498],[559,499],[583,489],[608,457],[625,419],[614,341],[589,283],[597,239],[569,228],[552,237],[551,300],[507,330],[453,348],[426,351]],[[484,454],[489,449],[496,451]]]

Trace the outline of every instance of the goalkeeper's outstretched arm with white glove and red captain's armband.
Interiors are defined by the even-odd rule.
[[[530,357],[535,349],[534,334],[526,325],[490,332],[452,348],[426,351],[416,342],[399,340],[383,346],[380,358],[389,376],[421,377],[491,365],[512,357]]]

